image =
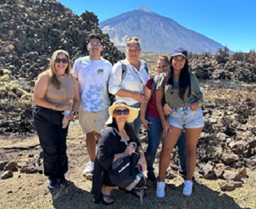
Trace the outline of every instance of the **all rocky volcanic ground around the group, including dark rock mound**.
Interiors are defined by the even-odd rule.
[[[37,173],[34,161],[40,147],[31,115],[33,86],[56,49],[69,51],[72,61],[87,54],[92,32],[102,37],[106,59],[115,63],[124,54],[99,29],[94,13],[74,15],[53,0],[0,2],[0,208],[94,208],[91,182],[81,175],[88,157],[77,120],[71,123],[68,138],[71,187],[50,191],[45,177]],[[227,52],[189,56],[204,93],[206,122],[197,148],[195,195],[181,195],[174,153],[167,173],[170,196],[156,199],[155,188],[149,187],[144,208],[166,208],[171,203],[173,208],[256,208],[256,54]],[[157,56],[142,54],[150,75]],[[146,140],[141,130],[144,147]],[[156,167],[158,160],[159,152]],[[115,194],[119,200],[113,208],[139,207],[128,194]]]

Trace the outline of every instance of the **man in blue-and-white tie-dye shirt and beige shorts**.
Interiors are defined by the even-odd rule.
[[[73,74],[79,83],[81,106],[79,123],[86,135],[87,152],[90,162],[87,163],[83,175],[93,172],[96,153],[96,140],[99,141],[101,131],[108,119],[108,79],[111,77],[112,65],[101,58],[101,38],[91,35],[87,49],[89,56],[84,56],[73,64]]]

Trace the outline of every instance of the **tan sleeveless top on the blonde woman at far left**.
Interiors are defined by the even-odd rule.
[[[54,104],[67,104],[75,97],[75,90],[73,86],[73,78],[71,75],[66,74],[64,76],[57,76],[59,82],[61,82],[61,88],[57,89],[50,84],[48,90],[45,93],[45,100]]]

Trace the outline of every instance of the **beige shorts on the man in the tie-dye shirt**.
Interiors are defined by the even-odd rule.
[[[83,111],[79,109],[79,123],[83,134],[97,132],[101,134],[108,120],[108,108],[102,111]]]

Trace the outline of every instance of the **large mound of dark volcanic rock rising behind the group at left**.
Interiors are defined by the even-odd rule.
[[[124,58],[102,33],[98,18],[85,11],[74,15],[58,1],[3,0],[0,22],[0,68],[18,79],[30,81],[48,67],[57,49],[69,52],[72,61],[85,56],[90,33],[98,33],[104,44],[102,56],[116,63]]]

